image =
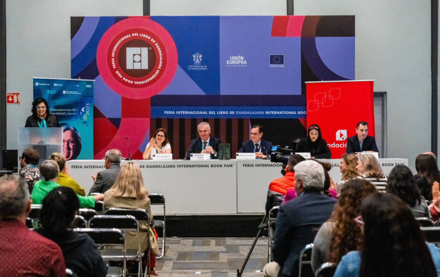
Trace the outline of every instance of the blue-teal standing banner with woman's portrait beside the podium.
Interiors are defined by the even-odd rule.
[[[66,160],[93,159],[94,80],[33,78],[34,99],[43,97],[63,128]]]

